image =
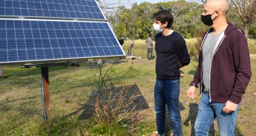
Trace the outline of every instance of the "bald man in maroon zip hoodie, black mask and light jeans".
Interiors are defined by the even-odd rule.
[[[199,52],[199,65],[187,90],[196,97],[200,83],[201,101],[194,124],[196,135],[209,135],[209,127],[217,119],[220,136],[235,135],[235,122],[248,82],[251,63],[244,33],[227,22],[226,0],[209,0],[201,20],[212,26],[205,33]]]

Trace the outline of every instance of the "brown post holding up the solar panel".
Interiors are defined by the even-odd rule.
[[[48,67],[41,67],[44,120],[50,119],[50,88]]]

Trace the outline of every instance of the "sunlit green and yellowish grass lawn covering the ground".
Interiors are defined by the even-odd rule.
[[[103,73],[114,60],[103,65]],[[121,124],[97,124],[93,120],[93,101],[99,86],[99,65],[85,61],[80,67],[49,67],[51,91],[51,120],[41,124],[42,99],[40,68],[23,69],[19,65],[2,66],[0,78],[0,135],[150,135],[156,131],[153,101],[155,61],[136,59],[129,65],[119,61],[107,74],[107,84],[124,81],[124,86],[136,85],[142,95],[142,108],[136,118]],[[180,109],[183,135],[193,134],[192,126],[200,96],[188,99],[185,91],[196,70],[196,61],[183,67],[186,77],[181,79]],[[251,58],[253,77],[248,84],[238,113],[236,135],[256,133],[256,107],[252,93],[256,88],[256,58]],[[146,105],[146,108],[143,108]],[[170,121],[167,120],[167,124]],[[211,135],[218,135],[214,122]],[[166,131],[171,132],[170,125]]]

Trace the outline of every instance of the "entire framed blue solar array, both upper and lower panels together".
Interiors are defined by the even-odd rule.
[[[0,65],[122,56],[94,0],[0,1]]]

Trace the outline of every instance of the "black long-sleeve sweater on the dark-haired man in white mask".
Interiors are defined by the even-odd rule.
[[[175,31],[167,36],[162,33],[155,35],[155,52],[157,80],[179,79],[179,63],[183,66],[190,63],[185,40]]]

